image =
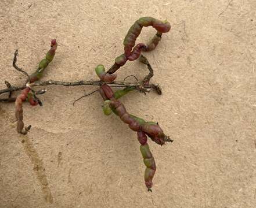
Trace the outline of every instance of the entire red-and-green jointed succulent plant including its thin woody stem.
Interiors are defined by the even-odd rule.
[[[136,43],[136,39],[140,35],[143,27],[152,26],[156,29],[157,33],[150,40],[148,44]],[[17,50],[15,51],[15,57],[13,58],[13,66],[15,69],[23,72],[27,76],[27,84],[22,87],[13,87],[8,81],[5,81],[7,88],[0,90],[0,94],[9,92],[9,97],[5,99],[0,99],[3,102],[15,102],[15,116],[17,119],[17,132],[21,134],[26,134],[31,126],[24,128],[23,122],[23,109],[22,104],[24,101],[30,102],[31,105],[41,105],[42,102],[37,97],[38,94],[43,94],[46,90],[40,90],[35,92],[33,86],[46,86],[49,84],[59,84],[62,86],[82,86],[82,85],[93,85],[100,86],[99,92],[102,96],[103,103],[103,113],[105,115],[110,115],[112,112],[116,114],[120,119],[129,125],[129,128],[132,131],[137,132],[138,140],[140,143],[140,152],[142,153],[143,161],[146,166],[145,170],[145,184],[147,190],[151,191],[152,188],[152,179],[156,172],[156,163],[154,157],[149,149],[147,144],[147,136],[156,142],[157,144],[163,145],[166,142],[172,142],[172,140],[165,135],[163,130],[160,128],[157,122],[145,121],[142,118],[136,117],[132,114],[129,114],[125,109],[124,104],[118,99],[122,96],[128,94],[128,92],[138,90],[140,92],[149,92],[151,89],[156,90],[158,94],[161,94],[161,88],[158,84],[151,84],[150,79],[153,77],[154,72],[152,66],[149,64],[149,61],[141,53],[143,51],[152,51],[156,48],[157,44],[161,40],[163,33],[170,31],[171,25],[168,21],[160,21],[153,17],[142,17],[137,20],[132,27],[129,29],[127,35],[124,39],[124,53],[119,55],[113,66],[109,70],[105,70],[103,65],[98,65],[95,69],[96,74],[99,77],[99,81],[75,81],[75,82],[64,82],[64,81],[38,81],[42,77],[44,69],[48,64],[53,60],[55,51],[57,49],[56,40],[52,40],[51,49],[46,54],[44,60],[39,63],[38,69],[32,74],[28,75],[23,69],[19,68],[16,65],[17,61]],[[117,75],[114,74],[121,66],[123,66],[128,60],[135,61],[139,58],[139,61],[147,65],[149,69],[149,74],[142,80],[136,83],[124,83],[124,81],[114,81],[117,78]],[[113,91],[112,86],[115,87],[125,87],[122,90]],[[17,98],[12,97],[12,92],[22,90],[20,95]]]

